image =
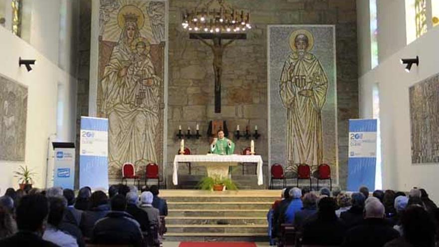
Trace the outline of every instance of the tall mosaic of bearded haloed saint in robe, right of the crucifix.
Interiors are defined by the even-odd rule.
[[[335,31],[332,25],[268,26],[270,164],[337,171]],[[338,181],[337,181],[338,183]]]

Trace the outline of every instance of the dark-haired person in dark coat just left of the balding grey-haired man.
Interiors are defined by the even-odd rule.
[[[362,193],[352,193],[352,207],[340,214],[340,219],[346,224],[347,228],[358,226],[363,223],[363,211],[366,197]]]

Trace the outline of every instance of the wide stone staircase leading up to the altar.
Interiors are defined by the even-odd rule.
[[[268,241],[266,214],[280,191],[173,191],[181,195],[167,196],[167,190],[161,191],[169,211],[165,242]]]

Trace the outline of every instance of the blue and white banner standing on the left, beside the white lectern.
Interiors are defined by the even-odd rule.
[[[108,119],[81,117],[79,187],[108,190]]]

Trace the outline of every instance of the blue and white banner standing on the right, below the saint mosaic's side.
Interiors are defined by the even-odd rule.
[[[377,120],[349,120],[348,191],[366,186],[375,190]]]

